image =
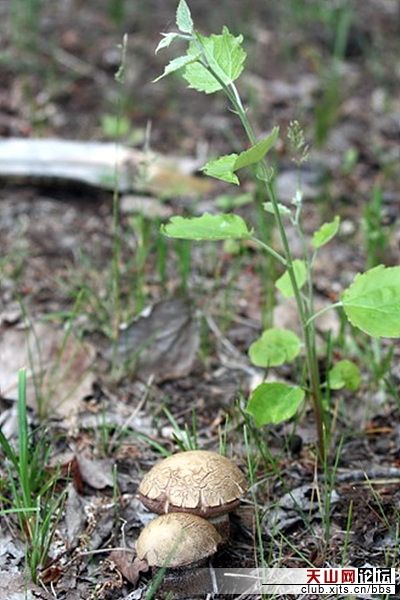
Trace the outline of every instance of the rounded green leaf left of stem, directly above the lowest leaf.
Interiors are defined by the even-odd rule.
[[[298,356],[301,343],[288,329],[266,329],[249,348],[249,356],[256,367],[277,367]]]

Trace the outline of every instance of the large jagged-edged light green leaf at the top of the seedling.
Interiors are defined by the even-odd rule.
[[[209,37],[197,35],[198,42],[204,51],[204,58],[218,78],[229,85],[235,81],[243,71],[246,52],[241,47],[243,36],[235,37],[227,27],[224,27],[222,34],[210,35]],[[191,42],[188,53],[198,52],[198,46]],[[199,92],[212,94],[222,89],[221,83],[200,64],[194,63],[186,67],[183,77],[189,83],[189,87]]]

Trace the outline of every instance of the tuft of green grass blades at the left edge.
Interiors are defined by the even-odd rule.
[[[46,470],[50,447],[44,437],[33,439],[26,410],[26,370],[18,373],[18,444],[0,429],[0,449],[5,456],[6,481],[0,495],[0,516],[15,515],[26,543],[26,562],[36,583],[46,566],[48,551],[61,515],[64,494],[56,493],[57,474]]]

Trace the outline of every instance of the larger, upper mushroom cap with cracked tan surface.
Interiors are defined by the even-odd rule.
[[[152,512],[191,512],[212,517],[236,508],[247,490],[241,470],[206,450],[180,452],[160,461],[143,478],[139,496]]]

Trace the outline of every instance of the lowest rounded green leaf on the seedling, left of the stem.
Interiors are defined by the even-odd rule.
[[[251,394],[247,412],[258,427],[282,423],[296,414],[304,395],[304,390],[286,383],[262,383]]]

